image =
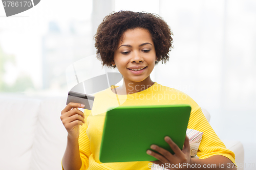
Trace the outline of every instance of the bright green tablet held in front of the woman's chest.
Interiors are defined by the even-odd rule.
[[[155,161],[147,155],[156,144],[171,153],[169,136],[182,150],[190,105],[119,106],[106,112],[99,160],[106,162]]]

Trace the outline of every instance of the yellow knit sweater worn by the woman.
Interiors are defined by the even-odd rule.
[[[114,87],[112,86],[111,88]],[[117,95],[111,88],[95,94],[92,111],[84,110],[86,123],[80,126],[79,135],[79,150],[82,160],[80,170],[150,169],[150,167],[148,167],[148,163],[150,162],[148,161],[117,163],[101,163],[99,161],[105,111],[111,106],[119,105],[189,104],[191,106],[191,114],[187,128],[203,132],[202,141],[197,153],[199,159],[208,158],[212,155],[223,155],[234,162],[234,153],[226,149],[223,142],[207,122],[201,108],[187,94],[173,88],[162,86],[156,82],[153,86],[143,91],[128,95]]]

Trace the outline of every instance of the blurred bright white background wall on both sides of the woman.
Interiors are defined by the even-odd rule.
[[[169,61],[153,70],[153,81],[207,109],[218,136],[242,141],[245,162],[256,164],[253,0],[41,1],[13,17],[5,17],[0,5],[0,91],[66,96],[65,69],[95,53],[93,35],[114,10],[163,17],[174,48]]]

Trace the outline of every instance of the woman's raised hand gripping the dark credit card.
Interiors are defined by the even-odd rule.
[[[79,125],[85,123],[84,114],[78,107],[83,108],[84,105],[71,102],[61,111],[60,119],[71,138],[79,137]]]

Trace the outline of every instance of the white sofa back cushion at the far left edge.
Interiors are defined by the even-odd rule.
[[[40,100],[0,95],[0,169],[29,169],[39,105]]]

